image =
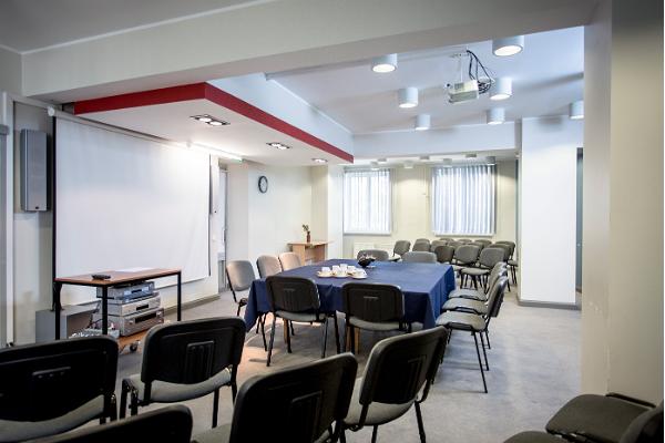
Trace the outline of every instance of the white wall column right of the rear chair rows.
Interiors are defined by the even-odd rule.
[[[520,299],[575,302],[575,183],[583,124],[524,119],[520,155]]]

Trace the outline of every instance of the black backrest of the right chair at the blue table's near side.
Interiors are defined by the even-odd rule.
[[[393,285],[349,282],[341,287],[342,310],[365,321],[402,321],[405,295]]]

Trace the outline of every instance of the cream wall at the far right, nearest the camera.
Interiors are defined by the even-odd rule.
[[[582,389],[659,402],[663,2],[603,2],[585,34]]]

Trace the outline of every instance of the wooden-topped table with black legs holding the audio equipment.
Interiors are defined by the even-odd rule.
[[[136,272],[123,272],[117,270],[106,270],[102,272],[93,274],[105,274],[111,276],[106,280],[95,280],[92,275],[85,274],[82,276],[73,277],[59,277],[53,279],[53,310],[55,311],[55,340],[60,339],[60,311],[62,305],[60,303],[60,291],[62,285],[72,286],[89,286],[93,288],[102,288],[102,333],[109,332],[109,288],[116,285],[131,285],[137,284],[144,280],[152,280],[162,277],[177,277],[177,321],[181,320],[182,316],[182,271],[181,269],[145,269]]]

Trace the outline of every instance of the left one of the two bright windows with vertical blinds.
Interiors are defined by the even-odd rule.
[[[390,234],[390,171],[344,174],[344,233]]]

